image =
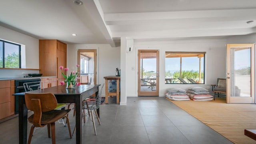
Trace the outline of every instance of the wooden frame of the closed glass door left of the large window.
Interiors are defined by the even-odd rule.
[[[140,53],[156,52],[156,91],[140,91]],[[159,96],[159,50],[138,50],[138,96]]]

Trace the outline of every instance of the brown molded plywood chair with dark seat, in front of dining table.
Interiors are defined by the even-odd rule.
[[[55,122],[60,118],[66,118],[70,138],[72,138],[68,117],[66,116],[70,109],[55,110],[57,100],[52,93],[25,93],[25,102],[28,110],[34,112],[28,117],[28,122],[32,124],[28,137],[28,144],[31,143],[33,131],[36,127],[48,127],[48,137],[52,136],[52,144],[55,144]],[[51,134],[51,136],[50,136]]]

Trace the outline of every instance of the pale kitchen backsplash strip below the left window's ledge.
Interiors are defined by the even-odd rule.
[[[38,74],[39,70],[6,70],[0,69],[0,78],[21,78],[28,74]],[[44,74],[43,74],[44,76]]]

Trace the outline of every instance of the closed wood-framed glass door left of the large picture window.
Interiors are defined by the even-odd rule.
[[[159,50],[138,50],[138,96],[159,95]]]

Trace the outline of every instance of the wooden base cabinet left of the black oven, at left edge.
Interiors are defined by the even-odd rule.
[[[11,115],[11,81],[0,81],[0,119]]]

